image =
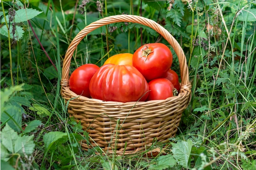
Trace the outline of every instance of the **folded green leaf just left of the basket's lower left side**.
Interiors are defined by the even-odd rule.
[[[49,132],[43,136],[43,142],[45,143],[46,150],[49,150],[54,142],[59,139],[67,137],[67,133],[64,132]]]

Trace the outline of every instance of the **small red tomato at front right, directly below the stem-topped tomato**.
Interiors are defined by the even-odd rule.
[[[149,94],[147,100],[160,100],[173,97],[173,84],[164,78],[153,79],[148,82]]]

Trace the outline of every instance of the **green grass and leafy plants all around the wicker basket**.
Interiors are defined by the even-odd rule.
[[[256,169],[256,1],[0,3],[2,170]],[[74,36],[99,18],[122,13],[164,26],[184,49],[189,66],[191,103],[176,137],[156,157],[83,151],[81,124],[68,117],[60,95],[63,57]],[[109,55],[133,53],[150,42],[168,45],[146,26],[103,26],[79,44],[70,69],[85,63],[101,66]],[[172,67],[179,73],[173,54]]]

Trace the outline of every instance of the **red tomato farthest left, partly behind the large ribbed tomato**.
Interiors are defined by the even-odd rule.
[[[95,64],[84,64],[70,75],[70,90],[77,95],[90,97],[89,84],[92,76],[99,69]]]

